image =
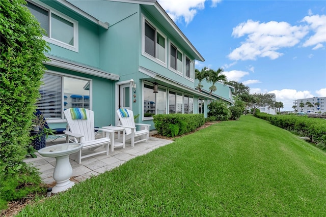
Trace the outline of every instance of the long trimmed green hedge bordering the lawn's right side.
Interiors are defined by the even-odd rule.
[[[298,136],[309,137],[317,147],[326,150],[326,119],[297,115],[270,115],[256,113],[256,117],[272,125],[288,130]]]

